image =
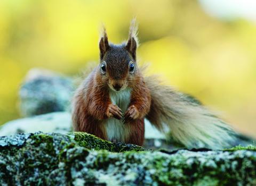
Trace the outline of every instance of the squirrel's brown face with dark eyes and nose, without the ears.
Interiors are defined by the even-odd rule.
[[[98,71],[111,90],[122,91],[135,83],[134,72],[137,71],[137,65],[125,45],[110,45]]]

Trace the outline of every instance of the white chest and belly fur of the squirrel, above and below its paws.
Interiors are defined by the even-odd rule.
[[[131,100],[131,90],[110,91],[109,96],[112,104],[116,104],[125,113]],[[106,132],[108,141],[124,142],[130,133],[130,128],[126,124],[123,125],[123,120],[110,117],[106,120]]]

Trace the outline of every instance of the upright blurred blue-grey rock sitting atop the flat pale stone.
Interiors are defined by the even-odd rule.
[[[31,69],[21,84],[20,114],[23,117],[67,111],[71,93],[71,78],[44,69]]]

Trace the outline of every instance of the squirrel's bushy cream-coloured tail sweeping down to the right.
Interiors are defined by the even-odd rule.
[[[195,98],[161,85],[156,77],[147,77],[145,82],[151,95],[146,118],[159,131],[171,134],[188,148],[220,149],[234,141],[233,128]]]

